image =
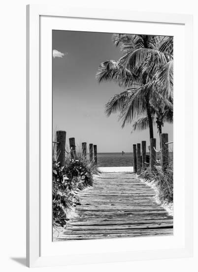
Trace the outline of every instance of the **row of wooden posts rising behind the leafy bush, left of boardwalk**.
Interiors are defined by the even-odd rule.
[[[64,166],[66,153],[70,153],[72,159],[76,158],[76,145],[75,138],[69,138],[69,151],[66,151],[66,131],[57,131],[57,140],[54,143],[57,144],[57,161],[60,162],[60,166]],[[82,156],[87,159],[87,143],[82,142]],[[91,163],[97,164],[97,145],[89,144],[89,160]]]

